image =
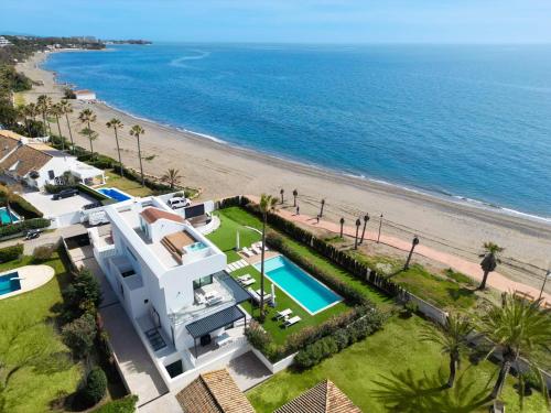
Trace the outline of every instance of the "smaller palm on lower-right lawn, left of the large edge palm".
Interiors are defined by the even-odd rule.
[[[437,344],[442,354],[450,356],[450,378],[446,383],[449,388],[453,388],[455,372],[460,368],[462,355],[468,348],[467,336],[472,332],[473,325],[468,318],[450,314],[444,325],[428,325],[421,334],[421,340]]]

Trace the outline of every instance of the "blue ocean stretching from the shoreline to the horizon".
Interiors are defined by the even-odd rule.
[[[228,144],[551,217],[551,45],[109,47],[44,67]]]

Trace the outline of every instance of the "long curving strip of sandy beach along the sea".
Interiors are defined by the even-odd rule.
[[[54,74],[39,67],[45,57],[46,54],[39,53],[19,64],[19,70],[44,83],[44,86],[25,94],[26,102],[34,101],[42,94],[50,95],[54,101],[63,97],[63,87],[55,84]],[[99,137],[94,142],[95,150],[116,157],[115,138],[105,124],[117,117],[126,127],[120,134],[122,161],[138,167],[136,141],[128,130],[139,123],[145,129],[141,140],[143,155],[154,155],[153,160],[144,162],[145,172],[159,176],[169,167],[179,169],[184,176],[183,183],[202,188],[205,199],[235,194],[279,194],[281,188],[291,199],[292,191],[296,188],[301,213],[317,214],[320,199],[325,198],[326,219],[337,221],[345,217],[352,224],[353,219],[369,213],[374,217],[369,222],[370,230],[378,228],[376,217],[383,214],[385,233],[404,240],[418,235],[423,244],[472,262],[479,261],[484,241],[497,242],[506,248],[499,272],[533,287],[541,286],[551,251],[549,222],[288,162],[137,119],[100,102],[72,101],[72,105],[73,135],[79,145],[89,148],[88,141],[76,133],[82,129],[78,112],[89,107],[97,115],[94,129]],[[64,122],[62,128],[68,137]],[[551,283],[545,290],[551,292]]]

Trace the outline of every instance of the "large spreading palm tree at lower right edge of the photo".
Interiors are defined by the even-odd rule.
[[[542,387],[542,393],[545,394],[548,401],[545,380],[542,379],[541,371],[532,359],[536,351],[549,351],[551,343],[551,309],[542,308],[540,305],[541,300],[528,302],[508,294],[504,298],[503,306],[494,306],[479,319],[477,330],[495,344],[489,354],[499,348],[503,355],[499,374],[491,390],[491,398],[499,396],[511,365],[522,356],[536,373],[539,384]],[[523,376],[519,376],[521,390],[519,393],[522,403]]]

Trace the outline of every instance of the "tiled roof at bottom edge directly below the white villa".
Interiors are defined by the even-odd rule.
[[[176,400],[184,413],[255,413],[226,369],[201,374]]]

